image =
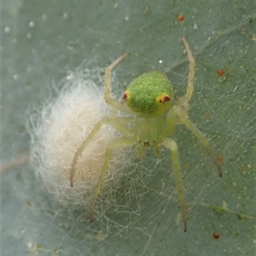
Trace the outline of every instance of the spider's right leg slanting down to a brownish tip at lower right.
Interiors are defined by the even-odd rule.
[[[183,125],[186,125],[187,128],[192,131],[192,133],[195,135],[195,137],[198,138],[198,140],[207,148],[209,154],[212,156],[212,160],[214,161],[215,165],[218,168],[218,174],[219,177],[222,177],[222,171],[221,171],[221,166],[218,162],[217,156],[213,153],[212,148],[210,146],[210,143],[207,140],[207,137],[205,137],[201,131],[199,131],[195,125],[188,119],[186,113],[183,111],[182,108],[179,108],[177,106],[173,106],[172,109],[175,111],[177,114],[179,120],[183,123]]]

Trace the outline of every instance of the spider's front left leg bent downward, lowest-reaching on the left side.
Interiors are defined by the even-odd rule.
[[[134,145],[135,143],[136,143],[135,140],[133,140],[131,138],[126,138],[126,137],[116,138],[111,143],[109,143],[108,148],[106,149],[105,161],[104,161],[104,165],[102,166],[101,175],[96,184],[96,189],[94,190],[93,201],[92,201],[92,205],[90,208],[90,222],[92,222],[92,220],[93,220],[93,214],[94,214],[94,209],[96,206],[96,200],[97,200],[99,193],[101,192],[102,183],[104,181],[104,177],[108,170],[108,166],[109,166],[109,162],[111,160],[111,155],[112,155],[113,149],[120,148],[120,147],[129,147],[129,146]]]

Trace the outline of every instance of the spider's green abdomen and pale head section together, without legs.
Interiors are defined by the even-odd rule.
[[[164,98],[169,100],[163,101]],[[155,147],[156,153],[160,153],[159,144],[165,137],[166,113],[172,106],[172,98],[172,84],[164,73],[158,71],[144,73],[125,90],[125,102],[136,113],[132,137],[141,157],[142,146]]]

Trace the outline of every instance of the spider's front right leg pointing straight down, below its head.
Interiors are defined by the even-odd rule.
[[[179,165],[179,154],[177,151],[177,143],[170,137],[166,137],[163,141],[163,145],[169,148],[172,152],[172,166],[177,186],[177,198],[181,206],[181,212],[183,216],[184,232],[187,231],[187,218],[186,218],[186,207],[185,207],[185,196],[183,189],[183,177],[180,171]]]

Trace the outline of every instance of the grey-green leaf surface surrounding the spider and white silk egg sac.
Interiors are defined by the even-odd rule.
[[[4,0],[1,12],[1,255],[256,254],[254,0]],[[88,224],[79,212],[52,207],[27,162],[26,109],[76,67],[92,60],[107,67],[125,52],[131,55],[115,69],[116,93],[158,69],[183,95],[188,59],[181,36],[197,65],[189,118],[224,160],[219,178],[200,143],[177,127],[188,232],[178,219],[166,150],[160,160],[147,154],[141,181],[140,173],[122,181],[117,205],[131,211],[113,208],[104,223]]]

